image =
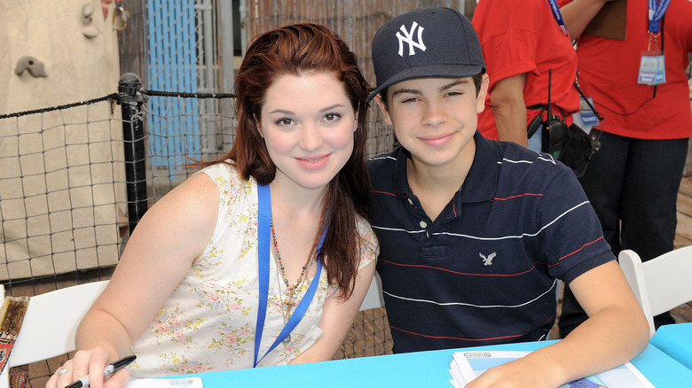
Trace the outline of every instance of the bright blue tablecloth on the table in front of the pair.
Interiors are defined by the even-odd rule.
[[[554,341],[475,347],[473,350],[535,350]],[[470,348],[467,348],[467,350]],[[329,386],[354,388],[451,388],[449,365],[460,349],[402,353],[279,367],[202,373],[204,388]],[[657,388],[692,386],[692,370],[653,345],[632,361]]]

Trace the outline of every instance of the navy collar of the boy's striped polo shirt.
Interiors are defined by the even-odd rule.
[[[454,196],[457,206],[463,202],[483,202],[495,198],[500,167],[497,147],[493,146],[492,141],[481,135],[478,130],[474,134],[474,140],[476,140],[476,155],[466,180],[461,186],[461,196],[459,192]],[[406,159],[411,156],[411,153],[399,146],[394,156],[397,162],[394,165],[393,191],[407,195],[411,188],[406,175]]]

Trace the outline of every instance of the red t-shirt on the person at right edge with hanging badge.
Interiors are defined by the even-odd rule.
[[[562,0],[560,5],[570,3]],[[692,51],[692,2],[672,0],[663,23],[665,78],[654,87],[637,83],[641,52],[649,42],[648,2],[627,2],[625,41],[582,35],[578,40],[579,86],[605,116],[602,130],[640,139],[692,136],[688,52]],[[629,114],[628,114],[629,113]]]

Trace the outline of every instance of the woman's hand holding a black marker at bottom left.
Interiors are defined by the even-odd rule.
[[[89,376],[92,388],[119,388],[130,380],[130,372],[123,368],[112,375],[103,376],[106,365],[117,359],[114,354],[96,347],[90,350],[80,350],[75,357],[65,361],[46,383],[46,388],[64,388],[83,376]]]

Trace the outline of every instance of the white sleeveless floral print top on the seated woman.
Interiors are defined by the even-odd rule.
[[[211,370],[252,368],[258,305],[257,186],[244,181],[236,169],[216,164],[202,170],[221,194],[216,229],[207,248],[171,293],[145,334],[130,348],[137,361],[134,377],[167,376]],[[365,220],[358,220],[361,261],[373,262],[378,245]],[[328,259],[327,259],[328,260]],[[285,323],[279,293],[285,284],[270,260],[269,308],[260,345],[262,357]],[[309,282],[303,284],[303,298]],[[322,334],[318,328],[325,299],[337,290],[319,274],[318,291],[308,312],[291,333],[288,345],[279,344],[258,366],[287,364]]]

